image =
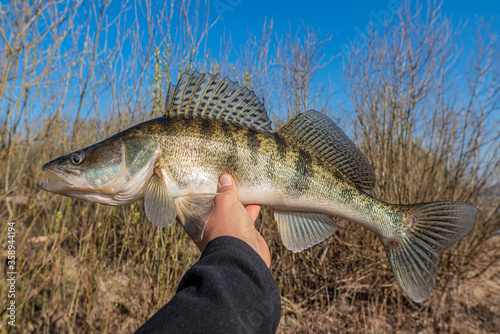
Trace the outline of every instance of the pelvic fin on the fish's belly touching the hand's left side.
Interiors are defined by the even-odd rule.
[[[215,195],[185,195],[175,199],[177,217],[194,241],[201,241],[203,238],[203,231],[214,209]]]

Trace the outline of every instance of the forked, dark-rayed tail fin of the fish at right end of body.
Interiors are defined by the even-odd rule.
[[[464,202],[401,205],[408,228],[401,238],[382,240],[403,291],[420,303],[426,300],[438,272],[438,254],[472,231],[477,209]]]

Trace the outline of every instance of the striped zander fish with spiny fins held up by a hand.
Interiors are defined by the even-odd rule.
[[[234,176],[243,204],[274,208],[283,244],[293,252],[337,229],[330,216],[373,231],[403,291],[428,298],[441,254],[474,227],[463,202],[399,205],[364,190],[375,185],[368,160],[327,116],[310,110],[273,132],[264,105],[237,83],[183,74],[170,84],[163,117],[138,124],[43,166],[46,191],[102,204],[144,198],[147,218],[176,217],[201,240],[218,178]]]

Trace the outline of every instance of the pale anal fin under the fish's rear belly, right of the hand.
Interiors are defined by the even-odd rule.
[[[274,219],[283,245],[294,253],[322,242],[337,230],[330,217],[319,213],[274,210]]]

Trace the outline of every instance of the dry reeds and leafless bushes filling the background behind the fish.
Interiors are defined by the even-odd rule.
[[[275,38],[270,21],[242,50],[223,40],[213,52],[208,7],[155,6],[0,7],[1,270],[14,221],[19,333],[130,332],[173,296],[199,256],[180,226],[150,224],[140,202],[106,207],[43,192],[44,162],[160,113],[167,80],[193,68],[255,89],[279,121],[312,107],[340,115],[328,105],[332,91],[313,85],[331,36],[305,27]],[[374,195],[468,201],[479,208],[476,228],[441,257],[431,297],[415,304],[369,232],[341,221],[329,240],[292,254],[264,209],[258,228],[281,290],[279,332],[500,331],[499,36],[478,21],[477,45],[461,50],[461,29],[438,5],[424,7],[403,7],[350,46],[344,73],[354,111],[343,123],[352,121],[348,132],[376,170]],[[7,289],[2,279],[2,303]],[[1,312],[1,332],[13,332]]]

